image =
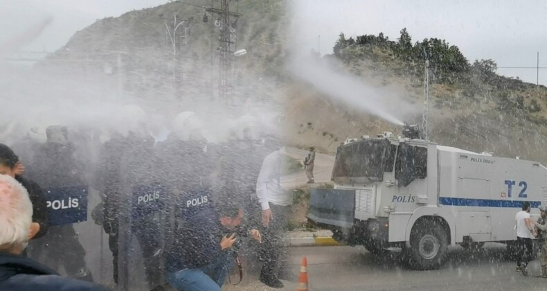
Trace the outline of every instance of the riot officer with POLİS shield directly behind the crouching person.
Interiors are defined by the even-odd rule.
[[[163,184],[169,186],[171,234],[166,270],[202,267],[220,252],[219,218],[213,205],[210,159],[205,141],[181,141],[171,134],[157,146]]]

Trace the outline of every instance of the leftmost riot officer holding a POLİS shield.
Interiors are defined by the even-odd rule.
[[[52,224],[47,235],[33,243],[28,252],[36,259],[45,256],[45,265],[64,267],[68,276],[93,281],[72,224],[87,219],[87,185],[67,135],[67,127],[47,127],[47,141],[35,148],[28,165],[28,175],[45,190]],[[55,201],[70,207],[71,215],[63,216],[66,210],[55,207]]]

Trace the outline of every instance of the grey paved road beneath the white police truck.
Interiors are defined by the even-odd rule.
[[[505,245],[487,244],[472,253],[454,247],[449,262],[440,270],[415,271],[401,267],[396,258],[379,259],[362,247],[294,247],[291,249],[294,278],[302,256],[307,256],[310,290],[547,290],[547,279],[536,278],[539,263],[530,263],[531,276],[515,272],[506,260]],[[295,290],[285,281],[283,290]],[[250,274],[242,286],[223,290],[275,290],[266,288]]]

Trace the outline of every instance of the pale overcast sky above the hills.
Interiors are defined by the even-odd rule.
[[[210,0],[187,0],[209,4]],[[240,0],[245,1],[245,0]],[[294,3],[302,48],[331,53],[340,32],[348,36],[380,31],[397,39],[406,27],[413,41],[439,37],[456,44],[469,61],[492,58],[499,66],[547,67],[547,1],[526,0],[286,0]],[[54,51],[96,19],[168,0],[0,0],[0,42],[48,16],[53,22],[28,50]],[[536,81],[535,69],[499,69],[508,76]],[[547,69],[539,82],[547,85]]]

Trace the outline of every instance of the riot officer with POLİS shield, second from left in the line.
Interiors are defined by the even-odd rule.
[[[162,231],[165,225],[165,194],[155,177],[155,166],[152,136],[116,136],[107,141],[101,151],[96,188],[102,192],[102,226],[109,234],[116,283],[118,256],[123,255],[127,261],[131,255],[129,245],[133,237],[141,246],[150,287],[159,285],[163,278],[161,258],[165,243]],[[129,230],[129,239],[120,236],[122,231]],[[127,254],[119,254],[120,244],[124,244]],[[123,271],[124,276],[129,276],[129,270]]]

